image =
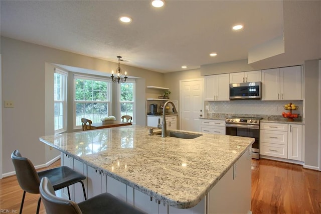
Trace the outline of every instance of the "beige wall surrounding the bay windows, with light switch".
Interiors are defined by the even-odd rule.
[[[10,158],[15,149],[29,157],[34,165],[55,157],[39,137],[53,133],[53,72],[55,64],[110,73],[117,63],[1,37],[2,100],[12,100],[15,108],[3,110],[3,174],[14,167]],[[145,84],[164,86],[164,74],[122,65],[131,76],[148,77],[139,81],[137,110],[145,113]],[[51,94],[51,95],[50,95]],[[136,115],[140,124],[145,115]],[[138,118],[139,117],[139,118]],[[51,119],[50,119],[51,118]]]

